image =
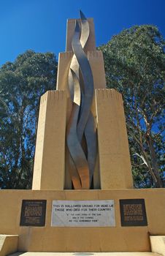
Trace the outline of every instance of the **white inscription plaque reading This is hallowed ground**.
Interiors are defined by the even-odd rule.
[[[115,227],[114,200],[53,200],[53,227]]]

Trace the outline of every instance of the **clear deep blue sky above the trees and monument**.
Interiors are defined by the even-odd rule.
[[[154,24],[165,37],[165,0],[0,0],[0,65],[18,54],[65,50],[66,19],[93,17],[96,45],[133,25]]]

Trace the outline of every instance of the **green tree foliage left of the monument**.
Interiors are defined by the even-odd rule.
[[[0,69],[0,188],[31,188],[39,99],[56,72],[53,53],[32,50]]]

